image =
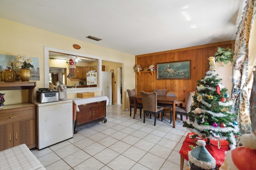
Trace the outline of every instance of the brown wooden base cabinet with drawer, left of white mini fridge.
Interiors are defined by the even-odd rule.
[[[35,106],[20,106],[0,110],[0,150],[23,143],[30,149],[36,147]]]

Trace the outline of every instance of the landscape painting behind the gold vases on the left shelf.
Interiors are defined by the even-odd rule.
[[[8,67],[11,67],[12,70],[16,72],[16,78],[15,81],[21,81],[20,79],[20,68],[16,67],[16,63],[18,61],[16,60],[17,56],[14,55],[4,55],[0,54],[0,80],[1,82],[4,81],[2,78],[2,72],[7,69]],[[31,77],[30,81],[34,80],[40,80],[39,76],[39,59],[31,57],[31,59],[34,60],[33,66],[34,68],[30,68],[31,70]]]

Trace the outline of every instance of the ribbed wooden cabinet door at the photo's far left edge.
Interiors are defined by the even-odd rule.
[[[0,151],[13,147],[13,124],[0,125]]]

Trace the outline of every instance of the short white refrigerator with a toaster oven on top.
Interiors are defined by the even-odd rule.
[[[73,137],[72,100],[38,103],[38,149],[54,145]]]

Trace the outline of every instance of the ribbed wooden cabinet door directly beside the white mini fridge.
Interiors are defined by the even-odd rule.
[[[13,146],[15,147],[23,143],[28,147],[35,145],[35,133],[35,119],[13,123]]]

